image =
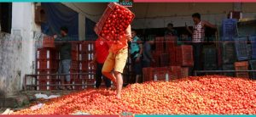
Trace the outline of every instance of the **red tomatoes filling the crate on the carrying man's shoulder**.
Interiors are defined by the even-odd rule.
[[[116,5],[108,15],[100,36],[107,40],[119,40],[125,37],[125,30],[134,18],[134,14],[128,8]]]

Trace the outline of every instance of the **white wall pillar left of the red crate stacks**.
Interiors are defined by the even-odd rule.
[[[13,3],[12,35],[21,36],[22,50],[20,56],[21,79],[20,89],[26,74],[32,74],[33,61],[35,60],[35,47],[33,32],[38,31],[34,25],[33,3]]]

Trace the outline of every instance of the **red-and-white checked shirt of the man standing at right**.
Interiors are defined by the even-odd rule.
[[[193,27],[193,40],[192,42],[203,42],[205,38],[205,29],[202,21]]]

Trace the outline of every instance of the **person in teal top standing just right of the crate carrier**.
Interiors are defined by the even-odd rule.
[[[131,31],[131,63],[133,71],[136,75],[135,82],[138,83],[142,78],[142,55],[143,55],[143,43],[137,36],[136,31]]]

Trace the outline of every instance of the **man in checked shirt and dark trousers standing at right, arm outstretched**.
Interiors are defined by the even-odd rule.
[[[201,14],[192,14],[194,21],[193,31],[186,25],[187,30],[192,34],[192,45],[194,50],[194,70],[201,70],[201,54],[203,49],[203,42],[205,39],[205,28],[210,27],[216,29],[216,25],[212,25],[207,21],[201,20]]]

